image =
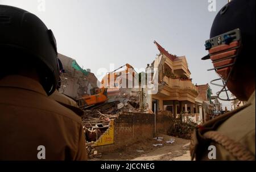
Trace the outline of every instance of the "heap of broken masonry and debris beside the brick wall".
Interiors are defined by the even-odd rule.
[[[93,145],[109,129],[111,120],[118,118],[123,112],[153,114],[149,108],[139,108],[138,91],[110,90],[108,98],[108,102],[84,110],[82,116],[89,158],[101,157]]]

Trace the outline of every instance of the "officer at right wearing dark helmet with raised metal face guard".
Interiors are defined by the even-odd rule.
[[[212,60],[224,83],[219,98],[230,90],[247,104],[197,127],[192,160],[255,160],[255,0],[223,7],[205,47],[209,54],[203,60]]]

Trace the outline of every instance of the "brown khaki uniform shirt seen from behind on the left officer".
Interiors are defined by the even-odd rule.
[[[81,122],[34,79],[0,80],[0,160],[86,160]]]

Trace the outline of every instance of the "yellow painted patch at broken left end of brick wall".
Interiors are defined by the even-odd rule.
[[[114,120],[110,121],[109,129],[95,142],[93,146],[104,146],[114,144]]]

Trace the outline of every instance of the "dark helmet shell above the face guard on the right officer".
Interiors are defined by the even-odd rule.
[[[255,0],[233,0],[225,5],[214,19],[210,38],[237,28],[242,36],[242,51],[238,58],[250,56],[255,49]],[[208,55],[202,59],[209,58]],[[242,62],[241,59],[238,61]]]

